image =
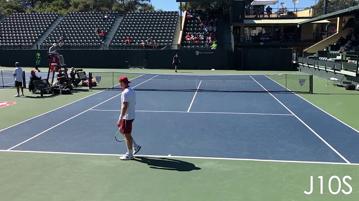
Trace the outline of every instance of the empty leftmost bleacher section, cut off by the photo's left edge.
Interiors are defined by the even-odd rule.
[[[58,16],[55,12],[12,13],[0,22],[0,46],[31,48]]]

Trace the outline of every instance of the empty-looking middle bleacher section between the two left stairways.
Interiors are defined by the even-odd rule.
[[[103,19],[108,14],[108,19]],[[98,48],[102,44],[102,37],[98,36],[95,29],[104,30],[106,33],[116,19],[117,12],[69,12],[46,37],[41,49],[48,49],[52,43],[57,43],[61,36],[65,38],[63,46],[71,46],[71,49]]]

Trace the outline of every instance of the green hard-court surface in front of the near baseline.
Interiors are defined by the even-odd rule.
[[[189,158],[0,153],[4,201],[357,201],[358,166]],[[16,173],[16,174],[14,174]],[[350,195],[329,192],[344,176]],[[314,177],[311,195],[310,177]],[[323,195],[319,176],[323,176]],[[331,183],[332,191],[338,181]],[[341,182],[341,190],[349,188]]]

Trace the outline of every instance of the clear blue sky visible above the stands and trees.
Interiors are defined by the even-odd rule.
[[[165,11],[170,11],[170,10],[179,10],[178,6],[179,6],[179,2],[176,2],[176,0],[151,0],[152,5],[155,6],[155,9],[160,9],[162,8]],[[275,5],[271,5],[271,7],[273,8],[277,8],[277,6],[279,6],[279,8],[281,8],[280,3],[284,2],[286,3],[287,8],[294,8],[294,3],[292,2],[292,0],[279,0],[277,4]],[[299,0],[299,2],[296,4],[296,8],[305,8],[305,7],[310,7],[311,5],[314,5],[316,3],[316,0]],[[289,10],[293,10],[293,9],[289,9]]]

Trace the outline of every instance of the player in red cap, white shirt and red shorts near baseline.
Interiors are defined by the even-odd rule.
[[[119,131],[126,137],[127,153],[121,156],[121,160],[132,160],[135,154],[140,151],[141,146],[137,145],[131,136],[132,122],[135,120],[136,93],[129,84],[131,83],[127,77],[119,79],[121,88],[121,114],[117,121]]]

